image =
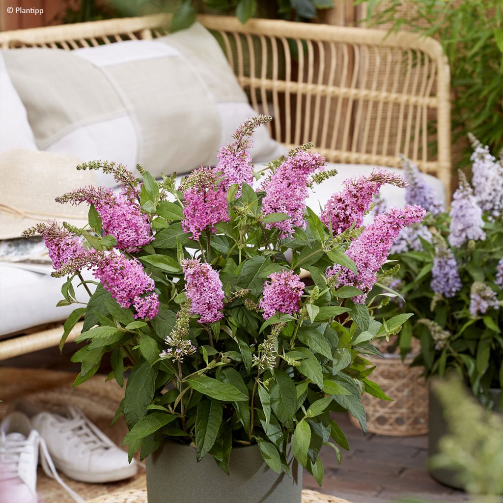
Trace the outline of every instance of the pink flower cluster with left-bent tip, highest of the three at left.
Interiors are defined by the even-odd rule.
[[[136,200],[139,190],[139,187],[133,190],[128,186],[115,194],[112,189],[105,187],[85,187],[58,197],[56,201],[75,205],[82,202],[94,204],[102,220],[104,233],[117,239],[119,249],[131,253],[153,239],[148,214]]]

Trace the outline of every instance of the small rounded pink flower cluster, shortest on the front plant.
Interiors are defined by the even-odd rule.
[[[264,319],[269,319],[277,311],[293,314],[299,311],[300,297],[304,293],[304,283],[293,271],[282,271],[269,276],[264,283],[263,299],[259,307],[264,309]]]

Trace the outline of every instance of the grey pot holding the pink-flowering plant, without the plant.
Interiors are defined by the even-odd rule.
[[[301,503],[302,467],[292,477],[271,470],[256,445],[235,447],[229,473],[210,455],[199,463],[196,450],[167,442],[147,458],[148,503]]]

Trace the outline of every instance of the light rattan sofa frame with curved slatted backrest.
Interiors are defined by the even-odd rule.
[[[399,167],[404,153],[450,189],[450,77],[442,48],[410,33],[200,16],[251,106],[287,147],[328,161]],[[0,33],[2,49],[72,50],[165,34],[163,16]],[[27,330],[30,331],[30,330]],[[31,330],[33,332],[33,330]],[[79,326],[68,341],[77,337]],[[57,345],[61,326],[0,342],[0,360]]]

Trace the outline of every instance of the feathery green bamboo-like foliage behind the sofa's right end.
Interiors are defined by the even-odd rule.
[[[493,152],[503,148],[503,1],[356,0],[370,26],[438,39],[449,59],[453,140],[471,131]],[[467,146],[466,156],[469,155]]]

